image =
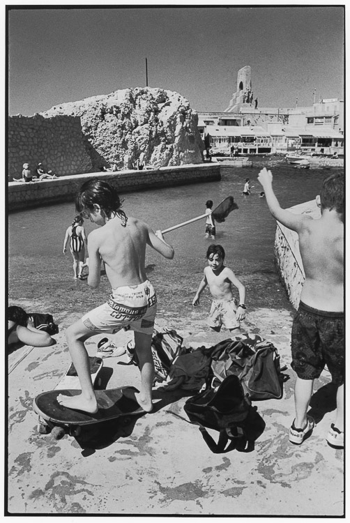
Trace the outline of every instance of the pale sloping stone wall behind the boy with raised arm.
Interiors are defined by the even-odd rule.
[[[292,213],[308,214],[312,218],[320,218],[321,212],[316,202],[305,202],[289,209]],[[299,240],[296,232],[287,229],[277,222],[275,235],[275,261],[277,271],[287,290],[289,301],[298,308],[301,289],[305,280],[303,261],[301,261],[299,251]]]

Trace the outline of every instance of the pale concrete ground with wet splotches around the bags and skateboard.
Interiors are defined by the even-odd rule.
[[[8,511],[13,515],[286,515],[341,516],[344,509],[343,450],[326,444],[335,415],[335,389],[327,372],[315,384],[310,405],[317,421],[301,446],[288,441],[294,418],[294,372],[289,362],[291,312],[257,309],[246,328],[271,340],[287,381],[282,400],[255,402],[266,428],[251,452],[231,450],[215,455],[198,427],[169,414],[187,418],[183,404],[188,391],[154,391],[152,414],[128,425],[96,425],[80,437],[55,441],[38,434],[32,402],[53,389],[70,361],[64,330],[75,317],[60,320],[56,345],[26,347],[9,355],[8,375]],[[211,346],[229,333],[208,331],[194,310],[172,324],[158,317],[159,326],[175,328],[186,347]],[[116,335],[124,344],[131,333]],[[87,344],[96,351],[102,336]],[[19,362],[19,363],[18,363]],[[102,388],[139,386],[137,367],[126,356],[106,358]],[[17,363],[17,365],[16,365]],[[218,433],[209,431],[217,439]]]

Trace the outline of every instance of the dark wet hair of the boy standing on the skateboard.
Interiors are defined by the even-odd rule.
[[[89,213],[94,211],[94,206],[100,206],[107,218],[119,216],[125,227],[128,221],[124,211],[121,210],[122,200],[118,193],[107,181],[92,178],[83,183],[75,197],[75,209],[83,218],[89,218]]]

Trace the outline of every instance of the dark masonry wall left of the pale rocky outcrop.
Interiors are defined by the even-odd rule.
[[[35,172],[38,162],[59,176],[93,170],[79,116],[10,116],[8,181],[21,178],[24,163]]]

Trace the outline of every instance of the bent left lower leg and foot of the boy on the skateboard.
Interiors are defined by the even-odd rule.
[[[82,393],[77,396],[64,396],[60,394],[57,397],[57,401],[64,407],[89,412],[91,414],[97,412],[98,407],[91,381],[89,354],[85,349],[84,341],[95,334],[97,334],[97,332],[87,328],[81,319],[68,327],[66,339],[70,356],[77,370]]]

